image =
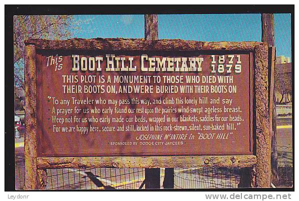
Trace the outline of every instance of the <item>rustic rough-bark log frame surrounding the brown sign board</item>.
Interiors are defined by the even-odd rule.
[[[263,42],[203,42],[181,39],[95,38],[69,40],[31,39],[25,42],[26,88],[26,189],[44,186],[46,168],[81,167],[252,167],[250,185],[270,186],[270,135],[268,121],[268,50]],[[38,157],[36,151],[36,50],[109,50],[109,51],[246,51],[254,58],[253,155],[180,155],[180,156],[101,156],[101,157]],[[38,180],[43,183],[38,184]]]

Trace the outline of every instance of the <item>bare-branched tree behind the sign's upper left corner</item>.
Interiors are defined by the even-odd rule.
[[[14,69],[15,85],[24,89],[25,40],[35,38],[66,39],[74,27],[73,15],[15,15]]]

